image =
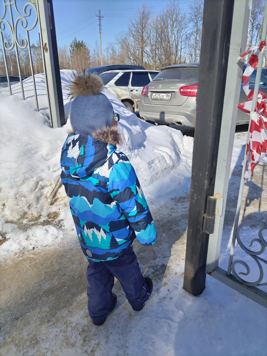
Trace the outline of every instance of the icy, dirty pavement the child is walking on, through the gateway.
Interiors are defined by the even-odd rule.
[[[236,139],[242,135],[236,133]],[[233,161],[223,261],[242,168],[240,159]],[[266,166],[255,172],[252,179],[260,185]],[[266,187],[255,199],[248,198],[249,185],[245,189],[245,218],[256,213],[263,218]],[[157,243],[134,245],[142,271],[153,279],[152,296],[134,312],[117,281],[117,305],[103,326],[94,326],[88,316],[87,262],[78,241],[2,263],[1,355],[266,355],[265,308],[209,276],[199,297],[182,289],[188,201],[184,194],[167,199],[166,206],[152,206]]]

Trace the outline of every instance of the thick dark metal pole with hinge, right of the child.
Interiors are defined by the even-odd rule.
[[[234,0],[205,0],[183,288],[205,288],[209,235],[203,231],[213,194]]]

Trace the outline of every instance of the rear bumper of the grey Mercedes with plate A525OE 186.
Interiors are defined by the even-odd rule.
[[[139,115],[141,119],[145,121],[156,122],[158,124],[174,124],[189,127],[195,127],[195,110],[193,110],[193,114],[194,116],[185,112],[167,113],[164,111],[148,112],[139,110]]]

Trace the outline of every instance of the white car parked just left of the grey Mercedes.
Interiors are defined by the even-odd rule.
[[[131,112],[138,111],[141,92],[158,70],[109,70],[99,75],[106,88]]]

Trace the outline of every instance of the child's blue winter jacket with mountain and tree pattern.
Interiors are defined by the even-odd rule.
[[[157,232],[128,158],[93,137],[69,135],[61,152],[61,180],[84,255],[114,260],[135,237],[153,245]]]

